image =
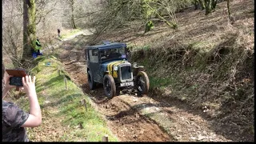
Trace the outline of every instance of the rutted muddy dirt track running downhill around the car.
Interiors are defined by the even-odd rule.
[[[120,94],[107,99],[102,85],[90,90],[86,78],[84,50],[75,43],[86,42],[79,36],[60,45],[61,61],[71,79],[88,94],[95,108],[120,142],[228,142],[218,128],[207,121],[202,110],[190,110],[182,102],[157,94],[138,97]],[[219,132],[218,132],[219,131]]]

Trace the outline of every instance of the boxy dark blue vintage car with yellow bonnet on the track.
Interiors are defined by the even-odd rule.
[[[87,78],[90,90],[102,83],[108,98],[121,90],[132,89],[139,95],[147,94],[149,78],[143,66],[128,62],[126,43],[104,42],[102,45],[86,46]]]

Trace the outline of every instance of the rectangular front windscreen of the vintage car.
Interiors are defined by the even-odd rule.
[[[124,47],[100,50],[100,58],[102,61],[126,58],[126,50]]]

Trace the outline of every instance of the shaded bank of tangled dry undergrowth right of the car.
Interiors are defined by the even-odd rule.
[[[252,141],[254,50],[247,49],[241,39],[239,31],[234,31],[209,50],[198,49],[203,42],[182,44],[170,39],[146,48],[133,47],[131,61],[145,66],[150,91],[165,95],[169,89],[167,97],[194,109],[206,107],[215,125],[239,140]]]

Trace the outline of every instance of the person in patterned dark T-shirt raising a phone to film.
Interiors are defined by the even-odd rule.
[[[3,100],[11,86],[11,75],[6,74],[5,66],[2,64],[2,142],[29,142],[25,127],[37,127],[42,123],[42,114],[35,90],[35,77],[30,75],[22,77],[22,90],[24,90],[30,101],[30,113],[20,109],[12,102]]]

